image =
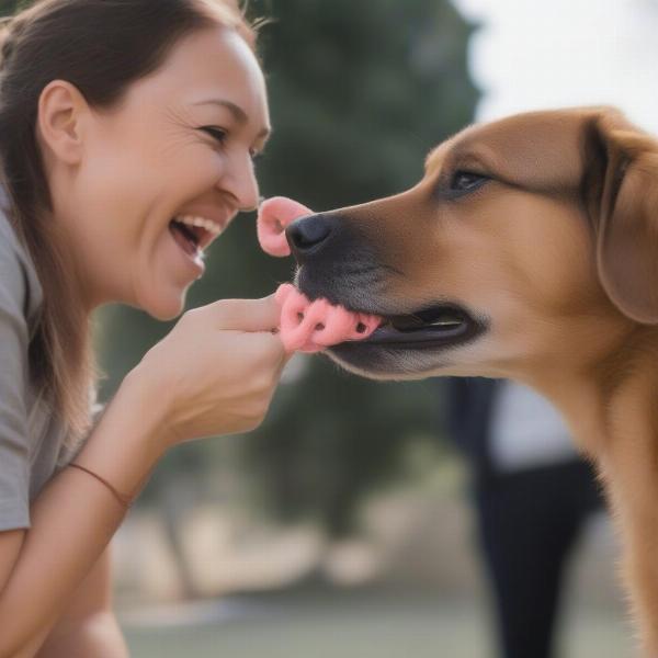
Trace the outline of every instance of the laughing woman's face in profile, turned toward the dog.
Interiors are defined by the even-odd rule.
[[[252,158],[270,132],[260,67],[234,32],[196,32],[86,126],[83,159],[53,194],[84,298],[175,317],[203,249],[258,204]]]

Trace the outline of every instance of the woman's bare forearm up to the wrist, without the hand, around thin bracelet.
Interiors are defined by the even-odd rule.
[[[144,407],[139,405],[143,392],[127,379],[78,461],[103,474],[117,489],[136,492],[162,451],[155,436],[152,441],[149,436],[158,428],[157,412],[149,413],[154,406],[146,399]],[[45,640],[72,592],[88,575],[93,579],[92,567],[118,527],[124,509],[98,480],[65,468],[44,489],[31,513],[32,527],[23,531],[15,564],[0,593],[1,658],[36,654],[35,638]],[[99,568],[103,568],[102,560]]]

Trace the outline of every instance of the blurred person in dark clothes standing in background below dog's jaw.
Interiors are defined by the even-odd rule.
[[[449,432],[472,476],[501,658],[555,656],[569,557],[602,504],[558,412],[506,379],[453,377]]]

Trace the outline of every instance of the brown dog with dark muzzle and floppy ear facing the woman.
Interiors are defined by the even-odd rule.
[[[310,298],[387,318],[330,350],[374,378],[510,377],[567,418],[658,656],[658,141],[611,109],[472,126],[410,190],[295,222]]]

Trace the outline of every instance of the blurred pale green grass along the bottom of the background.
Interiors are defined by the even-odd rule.
[[[231,597],[124,617],[135,658],[489,658],[481,603],[402,591]],[[565,615],[558,658],[631,658],[619,610]]]

